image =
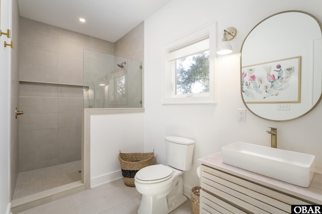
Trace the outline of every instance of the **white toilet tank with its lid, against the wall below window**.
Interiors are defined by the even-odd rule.
[[[194,146],[195,141],[188,138],[166,137],[168,165],[183,171],[190,170]]]

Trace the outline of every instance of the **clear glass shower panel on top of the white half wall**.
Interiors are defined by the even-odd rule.
[[[142,108],[142,62],[84,50],[84,108]]]

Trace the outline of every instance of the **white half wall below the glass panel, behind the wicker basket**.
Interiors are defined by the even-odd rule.
[[[88,113],[90,111],[87,110]],[[91,188],[122,177],[118,160],[120,151],[122,153],[144,151],[144,113],[133,111],[109,109],[101,110],[101,114],[91,116]]]

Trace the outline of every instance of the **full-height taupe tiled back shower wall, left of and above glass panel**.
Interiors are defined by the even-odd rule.
[[[20,17],[19,171],[81,159],[83,50],[114,43]]]

